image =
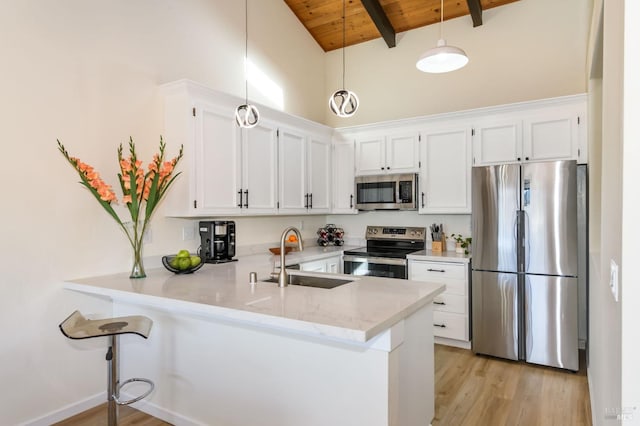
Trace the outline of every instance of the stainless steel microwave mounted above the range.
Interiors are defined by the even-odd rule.
[[[417,210],[418,175],[356,176],[359,210]]]

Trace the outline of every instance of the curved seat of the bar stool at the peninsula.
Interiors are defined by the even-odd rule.
[[[89,320],[76,310],[60,323],[60,331],[70,339],[89,339],[126,333],[134,333],[146,339],[149,337],[152,325],[153,321],[142,315]]]

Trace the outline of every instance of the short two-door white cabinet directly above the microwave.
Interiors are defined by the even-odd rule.
[[[356,175],[417,173],[418,132],[356,138]]]

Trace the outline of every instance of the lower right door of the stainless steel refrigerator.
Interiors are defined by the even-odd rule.
[[[526,361],[578,370],[578,279],[524,276]]]

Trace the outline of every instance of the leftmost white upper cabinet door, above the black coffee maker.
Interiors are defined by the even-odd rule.
[[[194,211],[238,213],[240,188],[240,134],[229,111],[198,105],[195,117]],[[223,160],[221,160],[223,159]]]

